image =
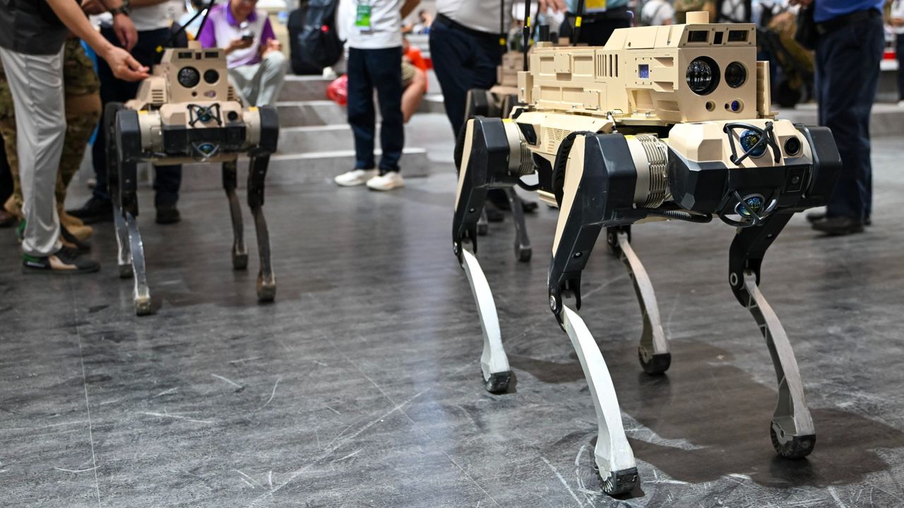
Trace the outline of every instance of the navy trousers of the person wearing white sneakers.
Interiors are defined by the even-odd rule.
[[[351,48],[348,51],[348,123],[354,134],[354,168],[373,169],[376,111],[373,89],[380,102],[380,174],[399,171],[405,147],[401,116],[401,46],[379,50]]]

